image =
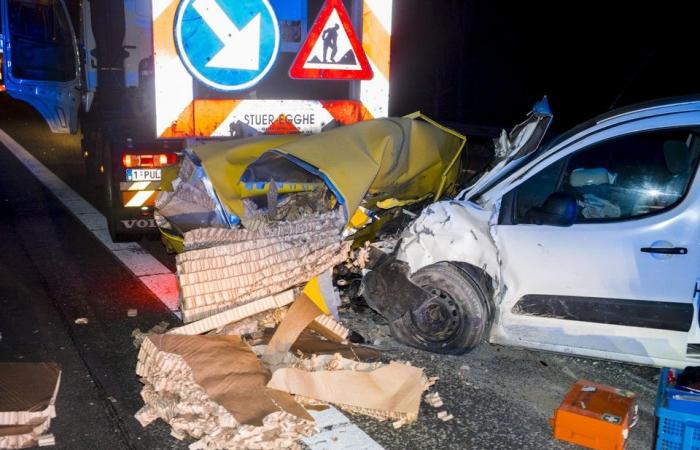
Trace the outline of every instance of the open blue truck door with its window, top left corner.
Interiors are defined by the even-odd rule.
[[[0,0],[5,89],[32,105],[54,133],[78,129],[75,31],[63,0]]]

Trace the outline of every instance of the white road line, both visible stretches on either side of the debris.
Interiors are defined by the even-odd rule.
[[[32,156],[10,135],[0,128],[0,142],[51,193],[126,266],[153,294],[172,311],[178,307],[177,279],[167,267],[136,243],[115,244],[109,237],[107,220],[97,209]],[[312,450],[383,450],[367,433],[350,422],[336,408],[309,411],[321,430],[303,439]]]

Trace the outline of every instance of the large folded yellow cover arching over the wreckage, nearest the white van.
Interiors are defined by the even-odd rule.
[[[360,205],[440,197],[454,185],[466,138],[420,113],[377,119],[270,147],[249,166],[284,179],[285,158],[320,176],[340,197],[348,220]],[[406,204],[408,204],[406,203]]]

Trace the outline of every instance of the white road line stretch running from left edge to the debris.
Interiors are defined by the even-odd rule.
[[[170,310],[178,307],[177,279],[167,267],[137,243],[115,244],[107,220],[97,209],[0,129],[0,142]]]

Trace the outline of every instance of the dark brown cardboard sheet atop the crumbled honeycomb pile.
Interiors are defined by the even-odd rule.
[[[287,393],[265,388],[269,379],[257,356],[239,336],[149,336],[158,350],[182,357],[210,399],[242,424],[262,426],[280,409],[313,421]]]

